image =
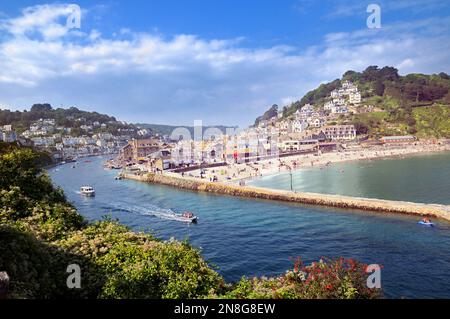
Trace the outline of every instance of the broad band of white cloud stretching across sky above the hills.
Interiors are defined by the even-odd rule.
[[[448,19],[338,32],[299,50],[125,28],[108,38],[63,31],[65,14],[64,5],[36,6],[1,24],[8,34],[0,42],[2,102],[77,105],[136,122],[249,124],[269,105],[290,103],[349,69],[450,70]]]

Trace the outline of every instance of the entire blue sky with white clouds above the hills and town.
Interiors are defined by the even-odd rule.
[[[246,126],[348,69],[450,73],[446,0],[0,2],[0,107]],[[379,4],[382,28],[368,29]]]

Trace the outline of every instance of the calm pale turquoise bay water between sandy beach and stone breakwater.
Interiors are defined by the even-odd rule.
[[[251,182],[290,190],[290,175]],[[293,173],[295,191],[450,204],[450,153],[334,164]]]

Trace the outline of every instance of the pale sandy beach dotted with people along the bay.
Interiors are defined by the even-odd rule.
[[[323,168],[341,162],[377,160],[384,158],[406,157],[413,155],[425,155],[437,152],[450,151],[448,143],[415,143],[401,146],[374,146],[371,148],[347,149],[330,153],[294,155],[283,158],[262,160],[254,163],[229,164],[219,168],[208,168],[191,171],[181,174],[174,174],[178,177],[189,179],[202,179],[207,181],[217,181],[222,183],[236,183],[237,181],[250,180],[262,176],[274,175],[287,172],[289,170],[299,170],[302,168]]]

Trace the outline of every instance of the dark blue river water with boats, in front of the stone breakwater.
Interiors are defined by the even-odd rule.
[[[370,214],[287,203],[198,194],[159,185],[114,180],[117,171],[104,159],[52,169],[55,184],[65,190],[89,220],[110,214],[134,230],[164,239],[189,238],[229,281],[241,276],[277,275],[292,267],[290,257],[306,262],[322,256],[356,258],[384,266],[387,297],[450,298],[450,224],[420,227],[417,218]],[[80,186],[95,187],[95,198],[83,198]],[[158,216],[165,209],[192,210],[198,225]],[[156,215],[156,216],[154,216]]]

